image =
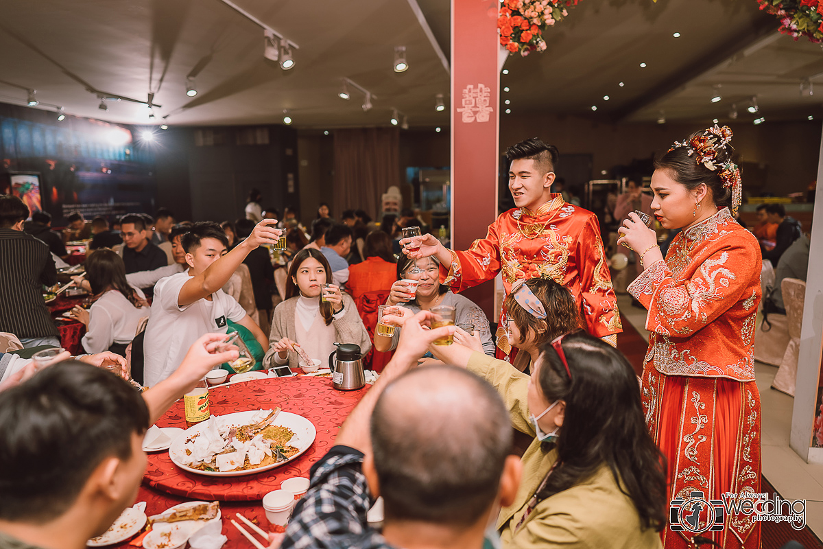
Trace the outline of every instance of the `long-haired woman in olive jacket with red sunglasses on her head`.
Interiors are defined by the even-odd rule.
[[[528,282],[509,296],[535,319],[553,318]],[[529,376],[477,348],[455,343],[431,350],[494,385],[512,426],[534,437],[523,454],[517,498],[497,519],[504,548],[661,547],[665,461],[646,430],[635,372],[620,351],[576,330],[542,343]]]

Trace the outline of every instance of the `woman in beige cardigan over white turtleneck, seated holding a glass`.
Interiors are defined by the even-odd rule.
[[[316,249],[305,248],[295,255],[286,279],[286,300],[274,309],[269,347],[263,366],[300,365],[296,343],[320,364],[328,364],[334,343],[355,343],[364,354],[371,348],[369,333],[360,319],[354,300],[333,286],[331,268]],[[332,284],[321,300],[323,284]]]

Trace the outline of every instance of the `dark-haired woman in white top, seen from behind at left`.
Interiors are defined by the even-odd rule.
[[[86,278],[97,296],[91,309],[72,309],[70,316],[86,324],[81,341],[86,352],[112,351],[125,356],[137,324],[149,315],[146,296],[126,281],[123,259],[110,249],[98,249],[86,259]]]

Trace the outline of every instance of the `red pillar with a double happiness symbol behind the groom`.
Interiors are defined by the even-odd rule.
[[[468,249],[497,216],[500,136],[496,0],[452,0],[453,249]],[[491,322],[494,281],[465,292]]]

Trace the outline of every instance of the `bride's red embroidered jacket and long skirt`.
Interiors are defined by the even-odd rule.
[[[670,500],[689,500],[694,491],[706,500],[760,493],[754,337],[761,263],[755,236],[723,208],[677,235],[666,259],[629,286],[649,309],[642,397],[668,460]],[[723,520],[722,531],[700,535],[719,547],[760,547],[751,515]],[[670,549],[690,547],[686,537],[695,533],[669,524],[661,535]]]

